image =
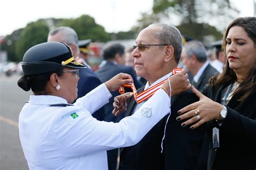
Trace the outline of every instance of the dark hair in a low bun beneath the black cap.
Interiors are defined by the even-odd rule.
[[[62,69],[59,69],[43,74],[22,76],[21,79],[18,80],[18,86],[25,91],[29,91],[31,89],[34,94],[48,95],[48,92],[45,91],[45,86],[53,73],[56,73],[58,76],[63,75]]]

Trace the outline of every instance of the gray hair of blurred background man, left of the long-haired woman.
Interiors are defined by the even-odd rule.
[[[199,62],[205,62],[207,60],[206,49],[201,41],[192,40],[185,44],[186,54],[188,58],[194,54]]]

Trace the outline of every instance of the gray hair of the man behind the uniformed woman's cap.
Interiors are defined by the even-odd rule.
[[[68,26],[60,26],[51,30],[48,36],[54,36],[55,34],[62,32],[63,33],[63,42],[66,44],[76,44],[78,47],[78,36],[75,30],[71,29]]]

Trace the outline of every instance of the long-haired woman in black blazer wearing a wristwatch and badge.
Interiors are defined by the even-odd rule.
[[[256,17],[234,19],[223,49],[223,73],[210,79],[203,94],[192,88],[200,101],[179,110],[177,120],[190,118],[182,126],[191,129],[207,122],[208,169],[255,170]]]

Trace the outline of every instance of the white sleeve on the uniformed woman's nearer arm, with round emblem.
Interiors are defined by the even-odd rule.
[[[82,156],[138,143],[169,112],[170,98],[160,89],[119,123],[100,122],[85,110],[78,110],[79,119],[73,122],[62,119],[55,124],[55,134],[64,154]]]

